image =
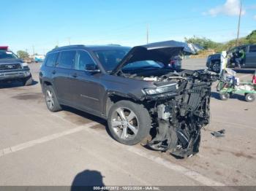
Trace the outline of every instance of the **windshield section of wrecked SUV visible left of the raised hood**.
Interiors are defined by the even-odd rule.
[[[118,63],[124,58],[124,56],[129,52],[129,48],[117,48],[111,50],[95,50],[94,54],[102,63],[105,71],[113,71]]]

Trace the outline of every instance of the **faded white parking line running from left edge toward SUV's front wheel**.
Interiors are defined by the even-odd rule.
[[[8,148],[5,148],[5,149],[1,149],[0,150],[0,157],[2,157],[4,155],[8,155],[12,152],[18,152],[20,150],[27,149],[29,147],[33,147],[37,144],[42,144],[42,143],[51,141],[53,139],[59,139],[62,136],[67,136],[67,135],[72,134],[72,133],[77,133],[81,130],[84,130],[85,128],[90,128],[90,127],[98,125],[98,124],[99,124],[98,122],[89,122],[86,125],[81,125],[77,128],[72,128],[72,129],[69,129],[69,130],[65,130],[61,133],[55,133],[55,134],[52,134],[50,136],[44,136],[40,139],[34,139],[34,140],[31,140],[31,141],[27,141],[23,144],[18,144],[18,145],[15,145],[13,147],[8,147]]]

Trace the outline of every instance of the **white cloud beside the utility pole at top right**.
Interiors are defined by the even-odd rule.
[[[240,0],[227,0],[225,4],[222,4],[218,7],[214,7],[208,12],[204,13],[204,15],[228,15],[228,16],[236,16],[239,15],[240,12]],[[241,15],[245,14],[245,9],[242,9]]]

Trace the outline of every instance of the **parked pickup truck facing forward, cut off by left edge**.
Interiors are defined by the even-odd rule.
[[[0,47],[0,82],[20,81],[23,85],[33,82],[28,63],[24,63],[8,47]]]

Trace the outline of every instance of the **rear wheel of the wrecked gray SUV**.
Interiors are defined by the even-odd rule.
[[[51,85],[45,86],[45,103],[50,112],[59,112],[61,105],[59,104],[58,98]]]

